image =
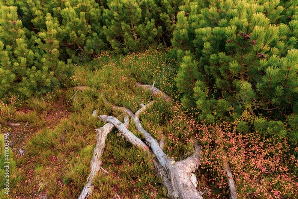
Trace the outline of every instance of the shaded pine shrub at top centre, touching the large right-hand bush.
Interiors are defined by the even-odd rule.
[[[179,0],[107,0],[103,32],[116,52],[168,46],[181,4]]]

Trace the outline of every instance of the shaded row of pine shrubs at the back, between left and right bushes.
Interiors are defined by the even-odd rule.
[[[46,31],[47,17],[58,24],[60,59],[74,62],[101,50],[118,53],[170,45],[179,0],[21,0],[16,5],[31,32]]]

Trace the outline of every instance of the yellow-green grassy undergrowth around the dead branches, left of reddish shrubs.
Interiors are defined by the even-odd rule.
[[[95,60],[76,66],[71,78],[72,86],[87,86],[86,89],[71,87],[56,90],[46,99],[32,98],[24,103],[23,106],[30,111],[23,113],[22,117],[19,117],[17,108],[3,105],[7,114],[1,117],[1,123],[13,119],[22,125],[28,122],[32,128],[38,129],[25,146],[27,155],[17,159],[21,182],[28,186],[15,186],[11,196],[30,198],[34,194],[47,193],[47,197],[53,199],[78,197],[90,172],[89,164],[96,144],[95,129],[104,125],[92,116],[92,112],[97,109],[99,114],[119,116],[123,121],[122,113],[112,111],[104,104],[102,93],[110,103],[128,107],[133,112],[140,108],[141,103],[156,100],[155,105],[141,116],[142,124],[158,139],[161,132],[171,135],[165,141],[165,151],[171,157],[187,157],[193,150],[192,145],[173,144],[174,139],[184,135],[172,134],[167,123],[174,118],[172,104],[167,105],[163,99],[152,97],[149,91],[135,86],[136,82],[151,85],[155,82],[156,87],[177,99],[179,95],[174,86],[176,68],[175,60],[171,60],[167,52],[154,49],[127,56],[103,52]],[[67,106],[68,116],[51,126],[46,116],[53,111],[50,107],[57,100]],[[36,122],[30,121],[31,118]],[[140,137],[132,123],[129,130]],[[91,199],[116,195],[129,199],[167,198],[167,192],[155,174],[152,159],[118,136],[116,130],[106,139],[102,161],[107,173],[102,170],[96,177]],[[33,173],[33,177],[28,173]]]

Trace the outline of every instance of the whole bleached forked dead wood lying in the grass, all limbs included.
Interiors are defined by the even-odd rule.
[[[136,86],[150,89],[153,95],[160,95],[167,102],[171,100],[168,95],[155,88],[154,84],[153,86],[136,84]],[[98,116],[99,119],[107,122],[107,124],[97,129],[97,144],[94,149],[93,158],[91,160],[91,173],[88,177],[87,184],[84,186],[78,199],[85,199],[92,193],[92,181],[97,172],[99,172],[102,164],[101,155],[105,146],[105,139],[107,134],[114,127],[119,130],[119,133],[125,137],[127,141],[138,147],[140,150],[146,151],[149,156],[154,158],[156,172],[162,178],[163,184],[168,191],[168,195],[172,199],[203,199],[202,192],[199,192],[196,189],[197,183],[195,182],[195,175],[192,174],[200,165],[201,148],[196,142],[194,144],[195,151],[193,155],[184,160],[175,162],[175,160],[171,159],[163,152],[162,144],[158,143],[158,141],[142,127],[139,120],[140,114],[149,109],[153,105],[154,101],[151,101],[147,105],[141,104],[141,108],[135,114],[133,114],[133,112],[126,107],[117,107],[111,105],[104,96],[103,100],[106,105],[112,106],[113,110],[119,110],[126,113],[125,123],[120,122],[116,117],[113,116]],[[93,115],[97,115],[97,112],[94,111]],[[127,129],[128,117],[130,117],[135,123],[135,126],[144,138],[145,143]]]

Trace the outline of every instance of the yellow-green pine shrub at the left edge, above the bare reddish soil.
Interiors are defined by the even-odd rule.
[[[0,98],[44,94],[67,81],[71,70],[58,60],[55,24],[48,22],[46,32],[30,35],[14,6],[1,7],[0,24]]]

